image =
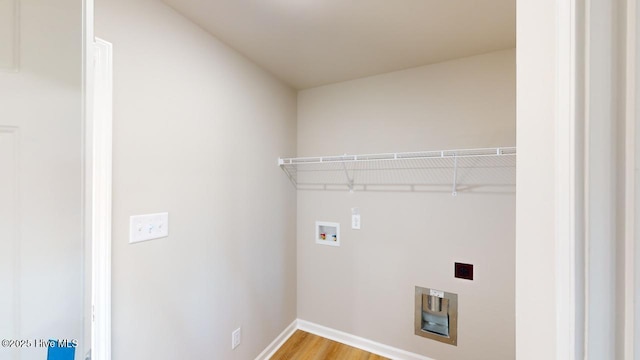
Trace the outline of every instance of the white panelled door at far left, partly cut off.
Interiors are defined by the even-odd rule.
[[[0,0],[0,360],[83,355],[81,84],[82,1]]]

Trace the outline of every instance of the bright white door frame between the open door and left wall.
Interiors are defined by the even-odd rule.
[[[94,34],[83,0],[84,353],[111,360],[112,46]]]

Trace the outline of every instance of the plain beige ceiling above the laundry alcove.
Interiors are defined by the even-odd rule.
[[[296,89],[515,47],[515,0],[163,0]]]

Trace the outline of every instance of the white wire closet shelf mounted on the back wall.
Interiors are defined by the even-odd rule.
[[[516,148],[280,158],[299,190],[513,192]]]

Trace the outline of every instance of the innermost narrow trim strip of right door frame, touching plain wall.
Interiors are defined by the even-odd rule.
[[[584,263],[581,179],[584,157],[581,109],[584,99],[580,54],[581,22],[578,3],[557,2],[557,102],[556,102],[556,359],[582,359],[584,348]]]

